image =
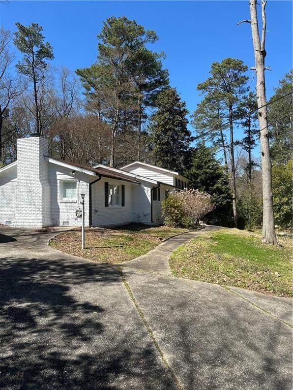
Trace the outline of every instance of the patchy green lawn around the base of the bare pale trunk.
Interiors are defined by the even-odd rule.
[[[182,245],[170,257],[174,276],[292,296],[291,241],[260,242],[255,233],[218,230]]]

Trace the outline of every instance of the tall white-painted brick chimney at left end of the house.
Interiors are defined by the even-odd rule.
[[[45,227],[51,221],[48,141],[41,137],[17,140],[17,193],[13,225]]]

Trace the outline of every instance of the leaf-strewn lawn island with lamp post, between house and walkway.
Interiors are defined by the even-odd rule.
[[[131,224],[116,229],[86,229],[85,249],[81,249],[79,230],[53,238],[49,245],[63,252],[99,263],[118,264],[154,249],[162,239],[186,232],[186,229]]]

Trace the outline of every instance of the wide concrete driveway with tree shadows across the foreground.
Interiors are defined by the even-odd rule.
[[[291,301],[119,270],[0,228],[0,388],[291,389]]]

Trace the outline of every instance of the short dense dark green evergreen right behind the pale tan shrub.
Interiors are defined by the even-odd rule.
[[[193,151],[192,165],[185,174],[191,179],[193,188],[212,195],[215,209],[210,217],[229,225],[232,206],[229,174],[226,167],[221,166],[216,159],[213,148],[203,142],[198,144]]]

